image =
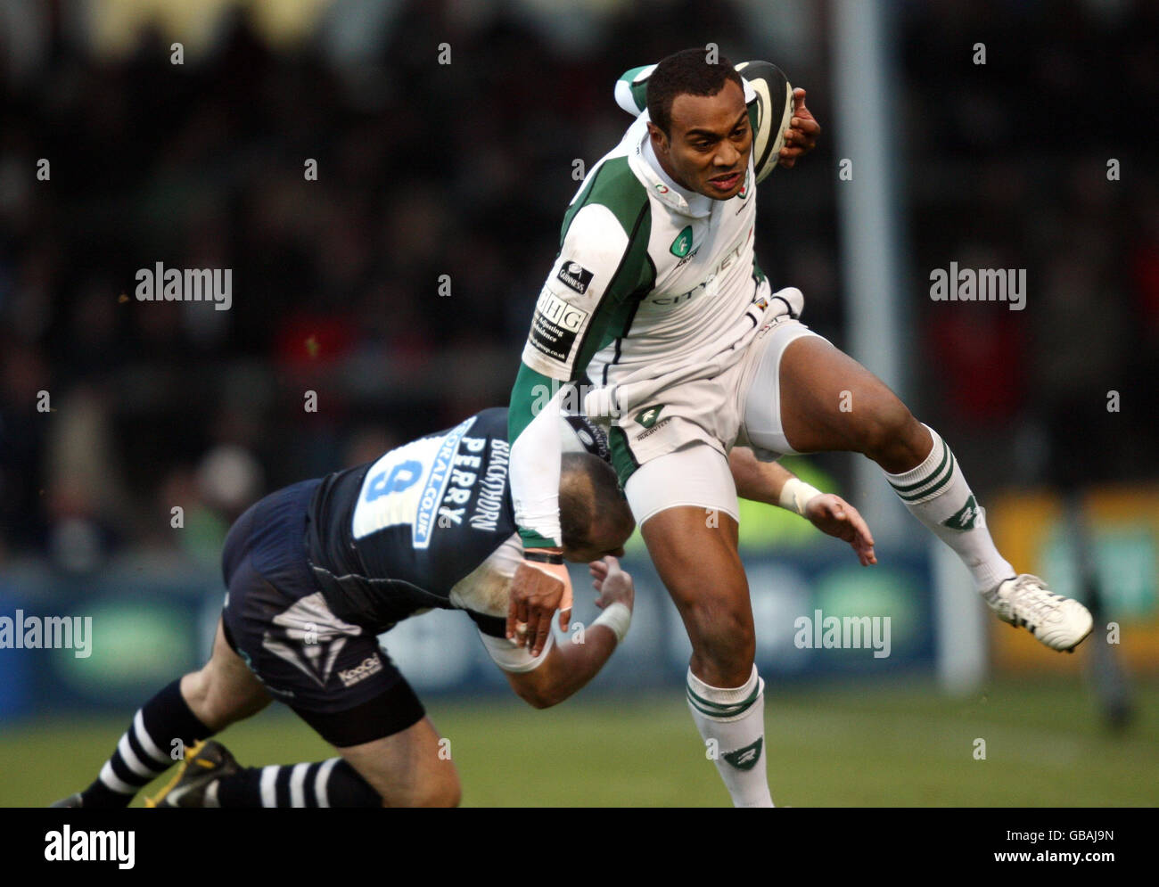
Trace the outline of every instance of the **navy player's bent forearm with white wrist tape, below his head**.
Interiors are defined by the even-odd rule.
[[[612,557],[588,566],[592,587],[599,592],[596,605],[604,612],[588,627],[577,626],[567,640],[553,645],[534,670],[508,671],[511,689],[535,708],[561,703],[591,681],[628,631],[635,596],[632,576]]]

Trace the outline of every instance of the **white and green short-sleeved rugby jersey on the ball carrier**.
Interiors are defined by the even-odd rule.
[[[625,89],[636,74],[634,89]],[[619,82],[641,106],[650,68]],[[745,80],[753,144],[759,124],[757,93]],[[619,145],[584,179],[563,220],[560,253],[540,292],[523,361],[553,379],[593,385],[622,379],[641,365],[657,375],[684,364],[705,346],[732,346],[730,330],[755,300],[763,279],[752,241],[756,170],[744,188],[714,201],[676,184],[659,167],[643,110]],[[775,121],[780,124],[780,121]],[[767,153],[760,158],[770,159]],[[773,161],[775,163],[775,160]],[[770,167],[771,168],[771,167]],[[749,325],[751,327],[751,323]]]

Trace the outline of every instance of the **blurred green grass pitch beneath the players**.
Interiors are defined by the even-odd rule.
[[[1113,735],[1077,678],[1000,681],[962,699],[912,684],[768,688],[773,799],[794,807],[1156,806],[1159,685],[1136,682],[1134,700],[1134,724]],[[541,712],[513,697],[427,706],[451,740],[464,806],[729,802],[679,686],[648,697],[581,695]],[[131,715],[38,719],[0,732],[0,806],[44,806],[88,785]],[[220,739],[247,765],[331,755],[276,705]]]

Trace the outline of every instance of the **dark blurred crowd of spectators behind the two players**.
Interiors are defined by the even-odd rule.
[[[0,560],[211,564],[264,492],[505,402],[574,161],[630,122],[615,78],[706,38],[781,61],[744,3],[613,6],[573,52],[502,3],[473,21],[394,6],[357,63],[321,39],[272,48],[235,12],[181,65],[172,35],[109,58],[52,16],[31,71],[0,65]],[[826,130],[763,187],[758,256],[841,344],[812,6],[814,51],[788,73]],[[981,492],[1154,477],[1157,19],[1145,2],[897,7],[882,112],[906,209],[907,400]],[[0,30],[0,59],[20,38]],[[1026,268],[1026,310],[931,301],[950,261]],[[156,262],[232,269],[231,310],[138,300]]]

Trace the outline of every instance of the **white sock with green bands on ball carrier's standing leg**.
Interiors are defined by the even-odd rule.
[[[765,776],[765,682],[752,667],[743,686],[709,686],[688,669],[688,708],[735,807],[772,807]]]

